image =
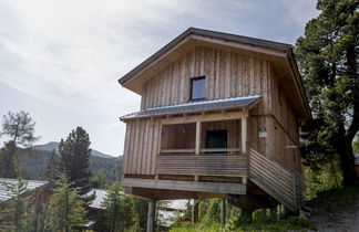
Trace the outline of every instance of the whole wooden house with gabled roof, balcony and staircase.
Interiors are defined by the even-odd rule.
[[[142,97],[121,117],[127,193],[267,194],[298,211],[311,115],[291,45],[189,28],[119,82]]]

